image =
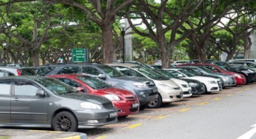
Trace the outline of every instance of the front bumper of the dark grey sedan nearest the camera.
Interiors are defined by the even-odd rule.
[[[110,113],[117,112],[117,109],[86,109],[74,111],[78,120],[78,129],[93,129],[110,123],[116,123],[118,117],[110,118]],[[98,121],[89,123],[88,121]]]

